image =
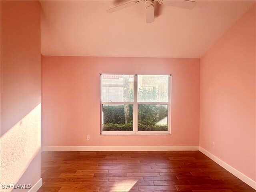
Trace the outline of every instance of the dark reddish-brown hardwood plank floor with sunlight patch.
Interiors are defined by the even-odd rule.
[[[255,192],[199,151],[42,152],[38,192]]]

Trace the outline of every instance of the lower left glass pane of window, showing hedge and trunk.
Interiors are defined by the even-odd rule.
[[[133,105],[103,105],[102,131],[133,131]]]

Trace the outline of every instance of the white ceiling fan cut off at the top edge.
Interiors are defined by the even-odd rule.
[[[106,10],[108,13],[112,13],[118,11],[120,9],[124,9],[126,7],[130,7],[136,5],[140,2],[144,2],[146,4],[146,23],[154,22],[154,2],[158,1],[159,4],[180,7],[185,9],[192,9],[196,6],[195,1],[190,0],[135,0],[131,1],[113,8]]]

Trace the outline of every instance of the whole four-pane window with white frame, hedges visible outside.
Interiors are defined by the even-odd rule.
[[[102,134],[170,134],[170,75],[100,74]]]

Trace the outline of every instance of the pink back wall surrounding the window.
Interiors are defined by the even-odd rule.
[[[100,72],[173,73],[172,135],[101,136]],[[198,146],[199,76],[199,59],[43,56],[42,145]]]

